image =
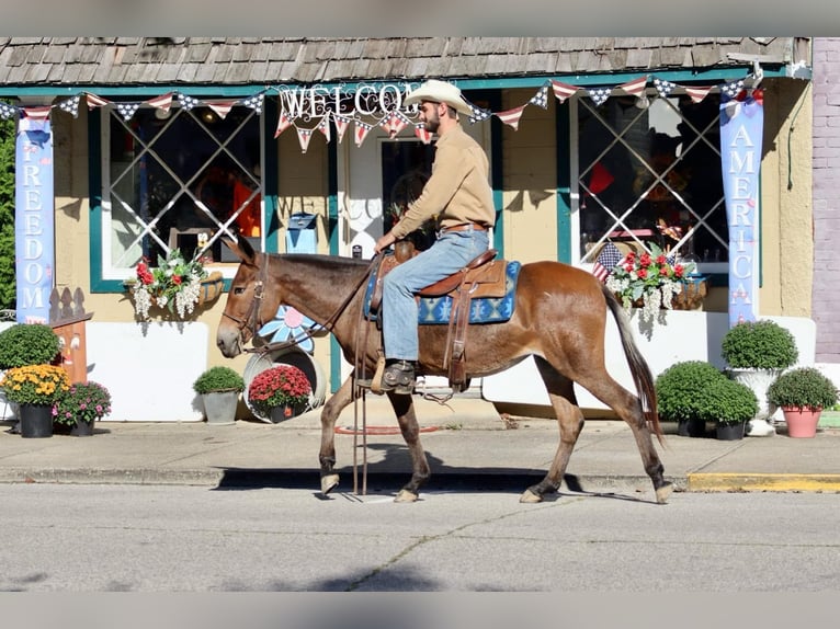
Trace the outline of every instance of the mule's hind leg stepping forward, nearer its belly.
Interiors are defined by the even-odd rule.
[[[542,502],[543,495],[554,493],[560,488],[571,451],[575,449],[580,431],[583,428],[583,413],[577,405],[572,381],[552,367],[544,358],[535,356],[534,359],[557,416],[560,443],[557,445],[557,451],[548,473],[537,484],[527,488],[520,496],[520,502]]]

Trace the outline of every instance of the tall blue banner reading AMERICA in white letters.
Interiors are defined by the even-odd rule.
[[[758,311],[759,169],[764,126],[761,90],[720,95],[720,162],[729,227],[729,327]]]

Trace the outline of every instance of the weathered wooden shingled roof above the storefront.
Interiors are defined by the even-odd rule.
[[[0,37],[0,85],[275,84],[688,70],[808,59],[802,37]]]

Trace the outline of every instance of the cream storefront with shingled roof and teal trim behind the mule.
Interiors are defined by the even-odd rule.
[[[0,96],[14,99],[8,115],[46,118],[53,134],[55,285],[84,291],[93,353],[102,352],[94,371],[117,391],[110,371],[126,353],[160,386],[169,378],[182,387],[195,369],[231,364],[214,344],[224,296],[185,323],[136,322],[123,283],[144,256],[179,248],[229,278],[236,264],[220,241],[228,235],[264,251],[350,256],[360,247],[372,255],[430,172],[434,138],[402,101],[431,75],[456,82],[473,104],[463,124],[491,159],[495,248],[523,263],[549,259],[589,270],[608,242],[622,252],[656,245],[695,262],[708,277],[707,316],[680,320],[697,327],[680,334],[706,339],[696,352],[711,362],[719,356],[710,320],[733,299],[722,102],[760,94],[760,238],[749,299],[760,316],[810,316],[807,38],[495,38],[488,48],[487,38],[379,39],[359,48],[349,39],[11,42],[0,50]],[[61,46],[88,56],[60,56]],[[449,53],[441,57],[439,48]],[[112,61],[110,73],[78,67],[94,50]],[[359,73],[351,59],[365,56],[381,62]],[[251,60],[232,72],[237,58]],[[45,59],[58,60],[41,73],[23,71]],[[798,259],[771,253],[791,247]],[[814,332],[803,329],[813,343]],[[658,356],[657,370],[684,356],[659,334],[646,350]],[[173,363],[166,356],[175,346],[184,358]],[[320,335],[313,356],[334,390],[348,371],[337,347]],[[236,361],[245,368],[247,359]],[[510,388],[495,380],[493,389]],[[179,396],[191,399],[189,382]],[[174,408],[154,419],[201,416],[192,402]],[[113,419],[148,419],[140,413],[126,407]]]

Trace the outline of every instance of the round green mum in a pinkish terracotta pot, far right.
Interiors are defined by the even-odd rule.
[[[782,409],[787,436],[813,437],[822,409],[837,403],[835,384],[816,367],[798,367],[779,376],[768,387],[768,399]]]

